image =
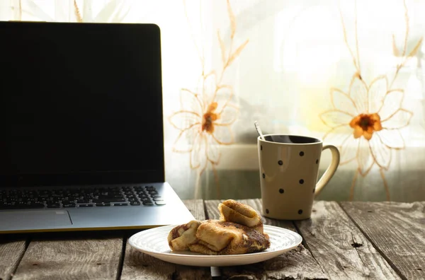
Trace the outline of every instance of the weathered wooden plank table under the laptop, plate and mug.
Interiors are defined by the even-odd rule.
[[[240,202],[261,207],[259,199]],[[185,203],[198,220],[218,218],[218,200]],[[315,202],[311,219],[263,222],[297,231],[302,245],[266,262],[222,267],[222,279],[425,279],[425,202]],[[130,234],[0,235],[0,280],[212,278],[210,267],[133,250]]]

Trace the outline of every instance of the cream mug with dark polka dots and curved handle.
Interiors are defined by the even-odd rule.
[[[258,138],[263,216],[280,220],[310,218],[314,197],[329,182],[339,165],[338,148],[323,146],[307,136],[266,134]],[[317,182],[322,151],[332,161]]]

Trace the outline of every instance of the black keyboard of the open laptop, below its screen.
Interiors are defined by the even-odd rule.
[[[0,190],[0,210],[165,205],[154,186]]]

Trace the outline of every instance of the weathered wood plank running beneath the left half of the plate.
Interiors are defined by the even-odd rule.
[[[197,220],[205,219],[202,199],[183,201]],[[125,259],[122,280],[138,279],[211,279],[208,267],[186,267],[171,264],[156,259],[133,249],[128,243],[125,249]]]

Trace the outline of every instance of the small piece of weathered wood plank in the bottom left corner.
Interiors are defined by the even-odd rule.
[[[0,235],[0,280],[12,279],[26,250],[26,239]]]

